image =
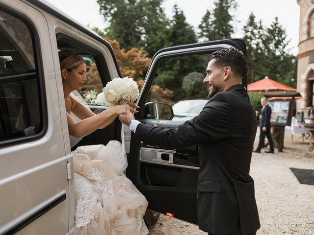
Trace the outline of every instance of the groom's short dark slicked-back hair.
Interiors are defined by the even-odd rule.
[[[235,47],[214,51],[209,56],[208,62],[212,59],[216,59],[215,66],[219,68],[229,66],[236,75],[244,77],[247,73],[246,57]]]

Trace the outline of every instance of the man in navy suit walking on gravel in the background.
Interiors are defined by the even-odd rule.
[[[270,135],[270,117],[271,117],[271,107],[267,103],[267,97],[261,98],[261,104],[263,106],[262,113],[260,116],[260,142],[258,147],[253,151],[255,153],[260,153],[261,148],[264,145],[265,135],[269,142],[269,150],[265,151],[265,153],[274,153],[274,143]]]

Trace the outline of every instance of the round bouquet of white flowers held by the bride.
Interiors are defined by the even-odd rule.
[[[133,103],[139,95],[139,90],[136,82],[127,76],[114,78],[108,82],[103,93],[105,103],[114,106],[120,103]]]

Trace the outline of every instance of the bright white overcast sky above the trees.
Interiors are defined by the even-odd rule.
[[[81,24],[104,29],[104,17],[99,14],[96,0],[46,0]],[[163,7],[168,18],[173,15],[173,5],[177,4],[183,10],[187,23],[194,29],[200,24],[207,9],[213,9],[214,0],[164,0]],[[191,2],[193,2],[191,4]],[[233,37],[243,37],[242,28],[251,12],[256,20],[262,20],[269,26],[277,16],[279,23],[286,28],[290,53],[297,55],[299,42],[300,6],[297,0],[237,0],[238,7],[233,13],[235,19],[235,34]]]

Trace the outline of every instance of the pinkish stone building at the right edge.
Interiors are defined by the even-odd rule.
[[[297,0],[297,4],[300,6],[297,91],[304,99],[297,101],[296,108],[303,110],[314,102],[314,0]]]

